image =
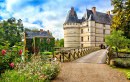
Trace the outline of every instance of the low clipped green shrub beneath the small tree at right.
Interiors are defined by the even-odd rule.
[[[130,67],[130,58],[117,58],[115,60],[115,66],[121,68],[129,68]]]

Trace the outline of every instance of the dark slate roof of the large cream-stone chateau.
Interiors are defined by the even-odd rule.
[[[82,19],[78,19],[76,11],[74,11],[74,16],[71,16],[71,10],[68,12],[65,23],[82,23],[88,20],[94,20],[97,23],[111,24],[113,15],[108,15],[107,13],[97,12],[94,15],[92,10],[86,9]],[[90,19],[89,19],[90,18]]]

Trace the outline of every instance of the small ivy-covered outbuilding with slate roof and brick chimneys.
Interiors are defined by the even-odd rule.
[[[25,50],[30,53],[53,51],[55,46],[55,38],[50,35],[49,30],[43,31],[25,31]]]

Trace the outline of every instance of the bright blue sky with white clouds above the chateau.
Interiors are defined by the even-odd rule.
[[[55,39],[61,39],[64,38],[63,24],[71,7],[79,19],[86,9],[92,7],[103,13],[114,8],[111,0],[0,0],[0,20],[22,19],[24,28],[49,30]]]

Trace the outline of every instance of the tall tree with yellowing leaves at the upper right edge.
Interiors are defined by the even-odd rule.
[[[124,35],[130,39],[130,0],[111,0],[114,6],[111,28],[124,31]]]

